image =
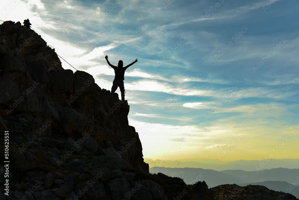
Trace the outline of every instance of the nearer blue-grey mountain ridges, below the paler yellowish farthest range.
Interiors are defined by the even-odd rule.
[[[292,183],[299,182],[299,169],[275,168],[264,169],[261,171],[244,171],[244,170],[224,170],[216,171],[212,169],[202,168],[167,168],[167,167],[151,167],[150,173],[161,172],[172,177],[182,178],[186,184],[192,184],[197,181],[205,181],[208,187],[216,187],[222,184],[237,184],[245,186],[263,185],[271,186],[272,190],[285,191],[298,197],[299,186],[294,187]],[[273,182],[272,184],[269,183]],[[281,184],[280,184],[281,183]],[[283,184],[282,184],[283,183]],[[299,185],[299,184],[298,184]],[[267,187],[266,185],[263,185]],[[292,186],[293,189],[289,191]]]

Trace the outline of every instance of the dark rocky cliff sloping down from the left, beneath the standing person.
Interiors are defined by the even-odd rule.
[[[9,184],[0,199],[213,199],[205,182],[149,174],[128,113],[92,75],[63,69],[33,30],[0,25],[0,132],[8,131],[10,161],[7,181],[0,158],[0,182]]]

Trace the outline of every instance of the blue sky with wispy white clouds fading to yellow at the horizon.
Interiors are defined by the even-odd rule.
[[[153,160],[299,158],[298,0],[4,0],[58,55],[111,90]],[[65,61],[64,69],[72,69]],[[120,90],[117,90],[120,97]]]

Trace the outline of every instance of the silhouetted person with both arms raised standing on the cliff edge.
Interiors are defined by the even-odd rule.
[[[114,69],[115,72],[115,77],[113,80],[113,85],[111,88],[111,93],[115,93],[117,87],[119,87],[119,90],[121,92],[121,100],[124,101],[125,100],[125,87],[123,86],[123,80],[125,80],[124,75],[125,75],[125,71],[126,69],[131,66],[132,64],[136,63],[138,60],[136,59],[134,62],[132,62],[131,64],[123,67],[123,61],[119,60],[118,61],[118,65],[114,66],[112,64],[110,64],[109,60],[108,60],[108,56],[105,56],[107,63],[110,67],[112,67]]]

